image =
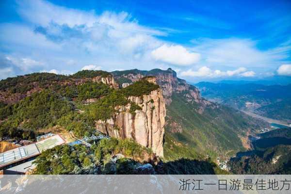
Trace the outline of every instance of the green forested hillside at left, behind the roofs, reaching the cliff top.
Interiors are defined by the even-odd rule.
[[[129,96],[141,96],[159,86],[137,81],[130,87],[116,90],[102,82],[88,80],[92,76],[110,75],[102,71],[81,71],[70,77],[34,73],[0,81],[0,136],[33,140],[38,129],[55,125],[74,131],[81,137],[92,133],[94,121],[110,118],[119,105],[132,104],[131,112],[139,109]],[[72,79],[77,77],[78,79]],[[16,95],[13,101],[10,96]],[[96,102],[82,105],[94,98]],[[78,111],[83,110],[83,111]]]

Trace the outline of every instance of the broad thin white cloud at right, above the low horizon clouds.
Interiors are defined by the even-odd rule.
[[[224,65],[227,67],[272,67],[288,57],[286,51],[290,47],[281,45],[274,49],[260,50],[257,41],[251,39],[201,38],[192,40],[193,51],[202,56],[201,63],[206,66]]]

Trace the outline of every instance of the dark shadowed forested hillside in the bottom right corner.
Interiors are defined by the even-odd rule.
[[[230,160],[234,174],[291,174],[291,128],[259,135],[254,150]]]

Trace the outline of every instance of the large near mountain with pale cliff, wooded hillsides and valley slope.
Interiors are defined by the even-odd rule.
[[[216,157],[249,149],[248,135],[268,126],[206,100],[170,68],[33,73],[0,81],[0,101],[1,137],[35,140],[55,129],[111,137],[91,148],[44,152],[38,174],[136,173],[145,163],[158,174],[225,173]]]

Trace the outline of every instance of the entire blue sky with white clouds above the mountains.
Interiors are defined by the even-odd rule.
[[[187,81],[291,76],[291,1],[0,2],[0,79],[168,67]]]

